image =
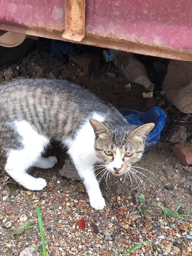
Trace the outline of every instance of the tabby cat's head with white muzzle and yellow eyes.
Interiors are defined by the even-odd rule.
[[[142,157],[147,134],[155,126],[153,123],[139,127],[126,122],[104,124],[93,118],[89,122],[95,133],[96,155],[114,175],[122,175]]]

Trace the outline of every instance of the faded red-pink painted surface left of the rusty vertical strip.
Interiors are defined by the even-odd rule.
[[[0,0],[0,22],[5,24],[64,30],[64,12],[64,0]]]

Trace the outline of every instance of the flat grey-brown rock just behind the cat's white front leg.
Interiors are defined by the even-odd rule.
[[[65,178],[70,179],[70,180],[81,180],[81,178],[79,177],[72,161],[69,158],[67,158],[65,160],[65,165],[59,171],[59,174],[62,177],[65,177]]]

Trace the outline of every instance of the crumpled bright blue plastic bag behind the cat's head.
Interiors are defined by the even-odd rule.
[[[166,114],[159,107],[153,107],[148,112],[139,112],[128,108],[120,108],[120,113],[131,125],[144,125],[154,123],[155,127],[150,131],[145,140],[145,151],[149,150],[160,140],[161,130],[165,126]]]

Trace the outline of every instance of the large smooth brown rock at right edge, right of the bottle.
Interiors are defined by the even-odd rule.
[[[171,60],[162,84],[169,102],[185,114],[192,113],[192,63]]]

